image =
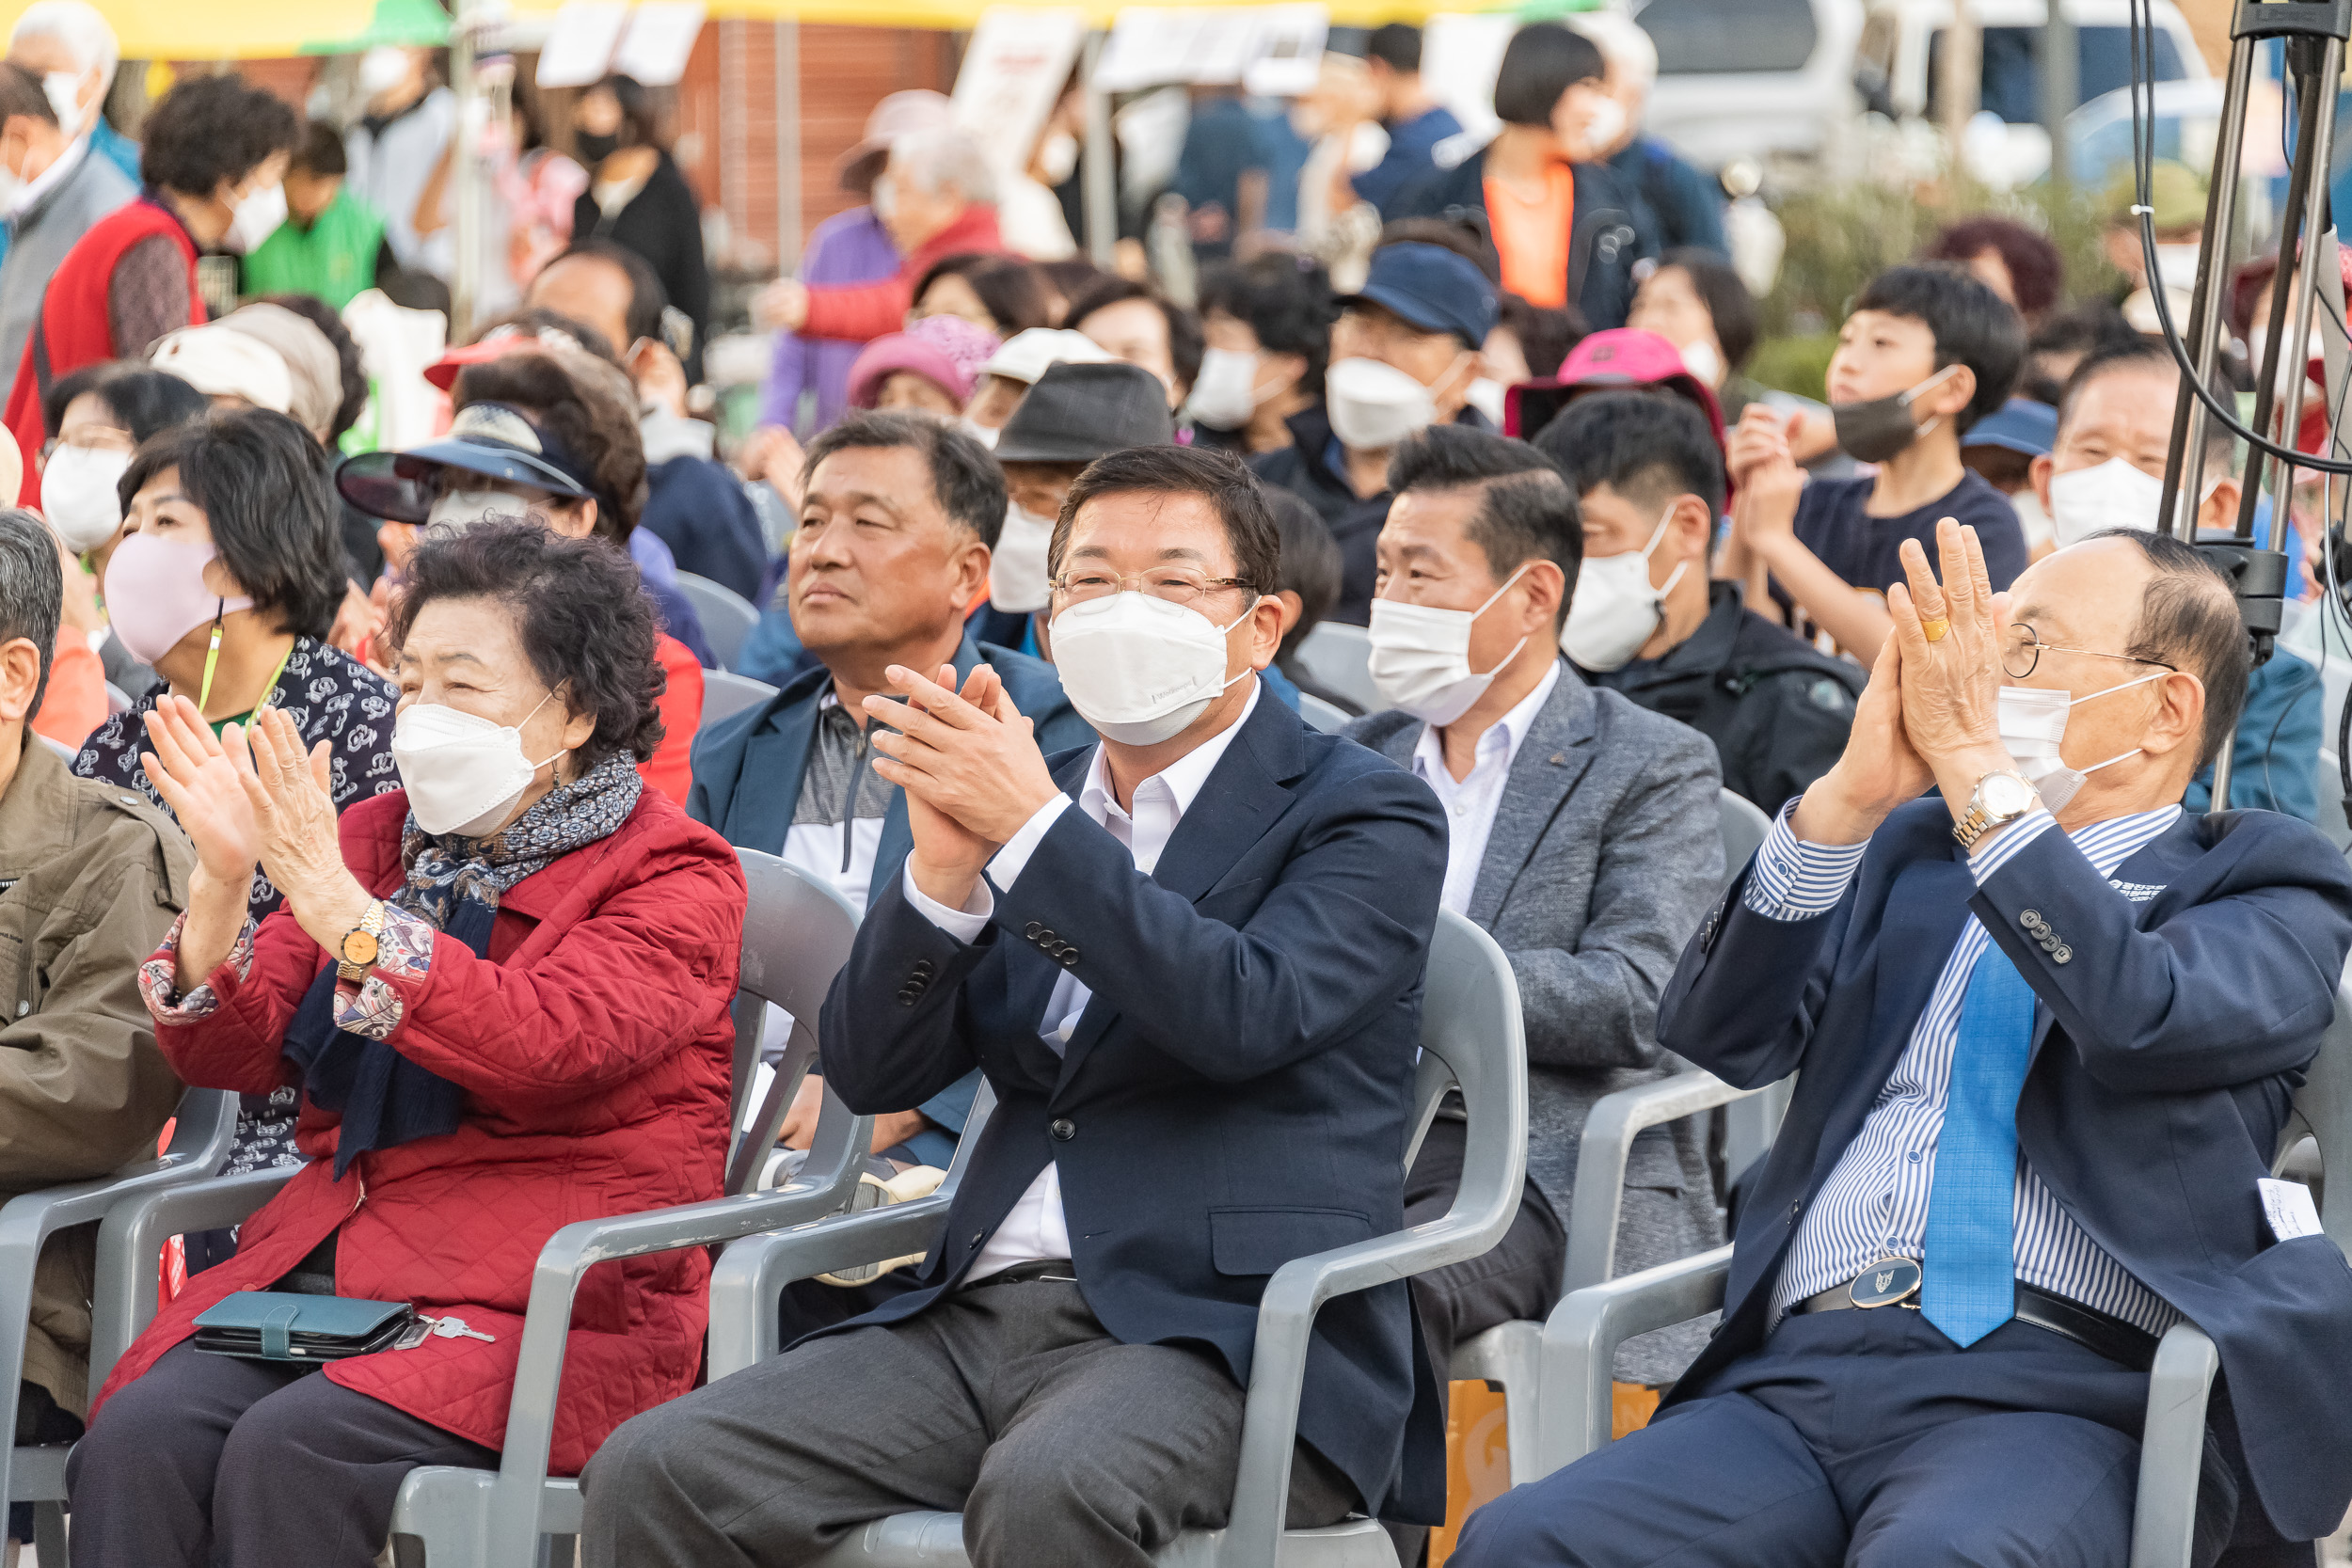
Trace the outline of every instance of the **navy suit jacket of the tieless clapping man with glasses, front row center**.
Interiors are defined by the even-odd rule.
[[[1051,759],[1073,797],[1089,766],[1091,748]],[[1150,877],[1073,809],[971,945],[894,884],[826,999],[826,1081],[884,1112],[978,1067],[997,1110],[922,1288],[858,1321],[953,1288],[1051,1159],[1103,1328],[1211,1349],[1247,1387],[1265,1279],[1404,1227],[1444,875],[1428,785],[1261,698]],[[1056,1056],[1037,1025],[1063,969],[1094,999]],[[1437,1385],[1402,1281],[1317,1314],[1298,1436],[1369,1509],[1444,1516]]]

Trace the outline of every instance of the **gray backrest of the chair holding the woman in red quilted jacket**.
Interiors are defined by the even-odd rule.
[[[858,914],[840,893],[776,856],[739,849],[736,858],[743,863],[750,900],[743,910],[743,978],[734,1004],[734,1103],[727,1119],[727,1126],[741,1131],[727,1161],[727,1192],[748,1192],[760,1175],[760,1161],[776,1143],[800,1079],[816,1060],[816,1011],[833,987],[833,976],[849,961]],[[776,1081],[760,1119],[746,1128],[743,1103],[757,1077],[769,1004],[793,1016],[793,1039],[776,1065]]]

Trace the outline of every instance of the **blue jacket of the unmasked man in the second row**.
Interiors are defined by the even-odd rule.
[[[1070,745],[1091,745],[1094,729],[1087,726],[1070,698],[1061,693],[1061,677],[1054,665],[1028,654],[974,642],[964,632],[955,649],[955,679],[988,665],[1004,682],[1004,693],[1023,715],[1037,724],[1037,745],[1056,752]],[[793,827],[793,809],[800,806],[800,778],[809,771],[809,748],[816,743],[816,705],[833,689],[833,672],[823,665],[795,675],[776,696],[757,708],[713,724],[694,741],[694,788],[687,792],[687,816],[708,827],[717,827],[736,849],[757,849],[771,856],[783,853],[783,835]],[[875,849],[875,875],[866,886],[866,907],[880,903],[882,891],[896,886],[898,867],[915,849],[915,835],[906,825],[906,790],[891,785],[889,816],[882,818],[882,844]],[[953,1084],[922,1105],[924,1117],[962,1138],[964,1119],[978,1093],[978,1074]],[[915,1152],[936,1164],[946,1164],[948,1145]]]

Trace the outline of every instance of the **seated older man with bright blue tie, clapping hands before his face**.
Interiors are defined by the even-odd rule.
[[[2197,1561],[2352,1500],[2352,1269],[2260,1190],[2352,875],[2296,818],[2180,811],[2244,701],[2237,604],[2154,534],[1999,599],[1973,531],[1938,548],[1661,1004],[1733,1084],[1799,1072],[1724,1326],[1649,1429],[1472,1516],[1468,1568],[2119,1568],[2178,1321],[2223,1363]]]

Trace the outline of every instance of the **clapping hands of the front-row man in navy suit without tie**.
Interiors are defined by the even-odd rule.
[[[955,665],[938,679],[891,665],[887,696],[866,698],[868,724],[882,752],[875,773],[906,790],[915,851],[915,886],[950,910],[971,898],[981,867],[1021,830],[1058,788],[1037,750],[1035,726],[1014,708],[1004,682],[988,665],[955,689]]]

